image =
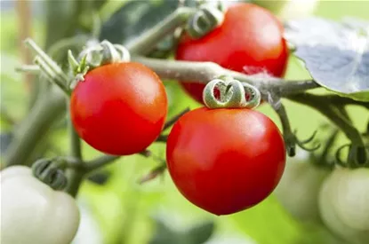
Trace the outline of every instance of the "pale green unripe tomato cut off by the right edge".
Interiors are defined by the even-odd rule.
[[[325,225],[349,243],[369,243],[369,169],[334,169],[319,193]]]

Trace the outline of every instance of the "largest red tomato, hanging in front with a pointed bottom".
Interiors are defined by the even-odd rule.
[[[285,143],[264,114],[201,107],[173,126],[166,160],[185,198],[215,215],[229,215],[273,192],[285,169]]]

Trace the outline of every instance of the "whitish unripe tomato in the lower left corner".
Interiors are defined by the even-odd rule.
[[[2,244],[70,244],[79,210],[68,193],[54,191],[26,166],[0,172]]]

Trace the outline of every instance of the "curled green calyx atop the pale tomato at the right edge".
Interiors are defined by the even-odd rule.
[[[341,160],[341,152],[344,148],[349,147],[348,159],[346,162]],[[337,164],[342,167],[358,168],[363,166],[369,166],[368,153],[364,146],[355,146],[352,144],[346,144],[340,146],[335,154]]]

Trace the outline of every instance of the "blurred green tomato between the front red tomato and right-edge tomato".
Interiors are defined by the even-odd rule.
[[[295,219],[319,223],[317,196],[329,173],[330,170],[315,166],[308,152],[298,151],[296,156],[287,158],[285,172],[274,194]]]

